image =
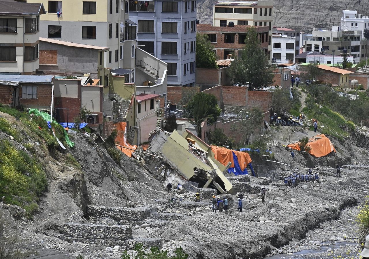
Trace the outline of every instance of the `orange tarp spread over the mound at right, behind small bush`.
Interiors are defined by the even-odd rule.
[[[309,154],[313,155],[314,157],[324,157],[332,151],[336,152],[333,144],[324,134],[319,134],[312,137],[309,139],[309,142],[306,146],[311,148]],[[287,147],[300,151],[299,142],[289,144]]]

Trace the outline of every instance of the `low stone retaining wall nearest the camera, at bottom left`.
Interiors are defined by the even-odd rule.
[[[121,225],[88,225],[64,223],[59,227],[68,242],[79,241],[97,245],[124,245],[132,238],[132,227]]]

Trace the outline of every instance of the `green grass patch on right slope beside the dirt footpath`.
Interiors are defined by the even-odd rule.
[[[343,140],[345,137],[349,136],[349,133],[344,130],[344,127],[355,129],[354,123],[345,120],[342,115],[325,106],[319,108],[318,105],[310,102],[310,104],[303,109],[303,112],[306,113],[310,118],[318,120],[318,126],[321,129],[321,133],[329,134],[337,137],[340,140]],[[321,127],[321,125],[324,125],[324,127]]]

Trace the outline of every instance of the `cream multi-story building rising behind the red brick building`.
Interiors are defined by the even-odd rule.
[[[268,55],[272,51],[273,1],[270,0],[220,0],[214,4],[213,26],[235,25],[268,26]]]

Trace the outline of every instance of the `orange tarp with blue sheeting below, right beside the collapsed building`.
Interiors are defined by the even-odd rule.
[[[239,152],[235,150],[230,150],[224,147],[210,146],[211,151],[214,153],[214,158],[218,160],[222,165],[227,166],[228,162],[231,162],[231,168],[234,168],[233,152],[237,156],[239,167],[242,171],[247,167],[247,165],[252,162],[251,157],[246,152]]]

